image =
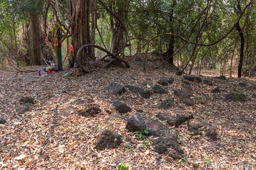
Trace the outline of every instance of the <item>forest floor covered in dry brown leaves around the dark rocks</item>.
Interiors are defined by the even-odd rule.
[[[110,170],[117,169],[119,163],[130,165],[132,170],[191,170],[195,164],[199,165],[198,169],[214,169],[205,163],[254,165],[255,168],[256,79],[215,80],[213,84],[220,87],[219,93],[210,92],[213,86],[191,82],[195,104],[186,106],[173,93],[174,88],[182,88],[182,76],[166,69],[141,72],[135,69],[136,62],[131,65],[131,69],[96,68],[93,73],[67,79],[62,77],[64,72],[38,78],[35,72],[0,71],[0,117],[7,121],[0,124],[0,170]],[[147,89],[147,85],[154,86],[161,77],[173,77],[174,82],[166,87],[166,94],[152,93],[148,99],[130,91],[115,96],[106,90],[112,82]],[[245,86],[240,86],[240,82]],[[233,91],[244,93],[246,102],[224,101],[225,95]],[[25,95],[36,101],[27,112],[23,112],[24,104],[20,102]],[[170,97],[175,100],[173,108],[156,107]],[[180,136],[179,146],[187,157],[182,165],[157,154],[152,137],[147,138],[147,147],[141,148],[142,142],[128,132],[124,119],[106,120],[119,114],[112,106],[117,100],[132,108],[125,115],[127,118],[136,110],[143,110],[145,117],[153,119],[158,112],[192,113],[195,119],[211,124],[217,130],[218,139],[212,141],[204,135],[198,139],[191,137],[186,123],[178,127],[166,125]],[[92,103],[99,104],[101,112],[95,117],[81,116],[79,112]],[[115,149],[95,149],[98,135],[108,126],[124,138],[132,139],[131,148],[123,142]]]

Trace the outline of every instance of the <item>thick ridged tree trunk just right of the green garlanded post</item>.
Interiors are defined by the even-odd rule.
[[[91,44],[90,19],[89,19],[89,3],[90,0],[70,0],[72,11],[75,13],[72,26],[72,44],[75,49],[74,62],[77,62],[78,67],[85,64],[92,57],[92,48],[85,48],[80,56],[76,56],[78,49],[84,44]]]

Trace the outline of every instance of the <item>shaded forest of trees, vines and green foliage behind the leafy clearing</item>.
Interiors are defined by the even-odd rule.
[[[129,67],[138,56],[143,71],[150,53],[189,74],[253,76],[255,15],[254,0],[2,0],[0,63],[17,70],[56,63],[46,37],[57,27],[65,66],[87,73],[95,60]]]

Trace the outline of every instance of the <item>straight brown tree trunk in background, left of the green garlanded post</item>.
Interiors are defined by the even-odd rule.
[[[30,13],[31,48],[34,49],[41,44],[41,16],[38,13]],[[42,65],[41,48],[32,51],[30,65]]]

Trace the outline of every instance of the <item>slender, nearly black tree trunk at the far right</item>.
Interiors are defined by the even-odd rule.
[[[237,15],[240,15],[241,14],[241,6],[240,6],[239,0],[236,0],[236,7],[237,7]],[[243,68],[243,48],[244,48],[245,38],[243,36],[243,30],[241,29],[241,27],[239,25],[239,21],[236,24],[236,30],[239,33],[240,41],[241,41],[240,60],[239,60],[239,65],[238,65],[238,78],[241,78],[241,76],[242,76],[242,68]]]

